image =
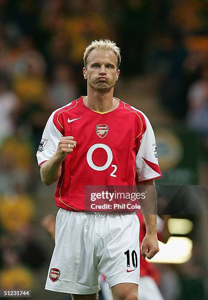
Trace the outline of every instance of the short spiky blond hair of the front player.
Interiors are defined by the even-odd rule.
[[[119,65],[121,63],[121,55],[120,55],[120,49],[118,46],[116,46],[116,43],[110,40],[102,40],[100,39],[99,41],[95,40],[90,43],[89,46],[84,51],[84,67],[87,68],[87,58],[89,56],[89,53],[94,50],[103,50],[103,51],[113,51],[117,57],[117,70],[119,68]]]

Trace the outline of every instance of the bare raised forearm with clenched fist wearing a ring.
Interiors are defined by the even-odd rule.
[[[70,145],[70,148],[68,145]],[[60,138],[56,152],[49,160],[44,162],[40,168],[41,180],[46,185],[51,185],[59,179],[61,175],[62,161],[65,159],[67,154],[73,152],[73,149],[76,146],[77,142],[74,141],[73,136],[63,136]]]

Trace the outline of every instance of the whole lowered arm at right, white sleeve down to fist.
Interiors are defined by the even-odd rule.
[[[156,188],[154,179],[162,176],[157,160],[156,139],[148,118],[140,112],[142,120],[142,135],[140,135],[139,149],[136,154],[136,172],[138,175],[138,189],[145,198],[140,198],[140,205],[146,225],[146,235],[141,246],[143,258],[152,258],[158,251],[156,225]]]

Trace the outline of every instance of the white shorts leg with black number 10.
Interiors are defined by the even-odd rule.
[[[103,227],[108,232],[97,243],[102,253],[98,271],[105,276],[110,287],[124,282],[139,284],[138,217],[120,214],[108,216],[104,221]]]

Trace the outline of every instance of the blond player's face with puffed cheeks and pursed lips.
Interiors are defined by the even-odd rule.
[[[89,53],[87,68],[83,68],[87,84],[97,91],[107,91],[114,87],[120,70],[117,70],[117,57],[112,51],[94,49]]]

